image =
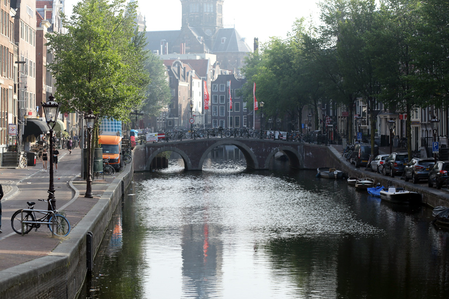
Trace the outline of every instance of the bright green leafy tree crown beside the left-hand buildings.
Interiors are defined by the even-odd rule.
[[[150,82],[144,34],[135,29],[136,3],[125,1],[80,1],[70,20],[63,18],[68,32],[47,35],[61,111],[125,121],[144,99]]]

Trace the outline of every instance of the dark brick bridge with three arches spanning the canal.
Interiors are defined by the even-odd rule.
[[[202,170],[208,154],[215,148],[232,145],[240,149],[246,159],[246,166],[251,169],[268,169],[271,158],[282,151],[294,168],[324,167],[329,154],[325,146],[285,142],[278,140],[210,138],[187,139],[168,143],[147,143],[137,146],[134,151],[135,171],[149,171],[153,158],[164,151],[173,151],[181,155],[186,170]]]

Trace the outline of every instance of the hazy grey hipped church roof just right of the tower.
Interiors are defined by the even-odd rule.
[[[235,28],[221,28],[217,32],[212,52],[251,52],[251,48]]]

